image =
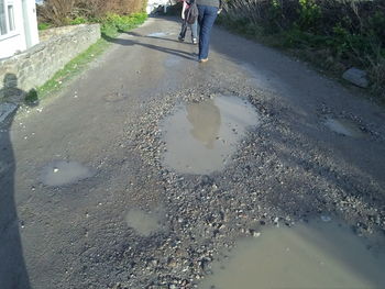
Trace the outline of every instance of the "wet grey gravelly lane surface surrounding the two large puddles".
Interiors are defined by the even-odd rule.
[[[3,125],[1,288],[195,288],[239,237],[320,215],[384,245],[384,110],[220,29],[198,64],[178,30],[150,19],[111,40],[59,97]],[[260,124],[221,171],[164,166],[164,118],[217,96],[249,101]],[[46,181],[50,167],[70,173]]]

